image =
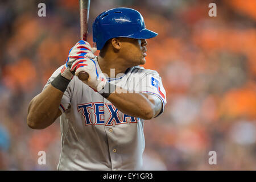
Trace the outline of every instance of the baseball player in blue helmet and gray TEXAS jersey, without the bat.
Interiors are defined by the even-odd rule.
[[[166,92],[156,71],[144,69],[145,39],[154,38],[142,15],[116,8],[97,16],[93,42],[80,40],[28,106],[27,123],[44,129],[60,117],[58,170],[142,169],[144,120],[162,114]],[[88,80],[78,75],[86,72]]]

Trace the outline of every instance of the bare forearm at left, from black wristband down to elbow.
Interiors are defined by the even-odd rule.
[[[28,106],[27,124],[32,129],[44,129],[59,117],[59,105],[63,92],[51,84],[42,93],[34,97]]]

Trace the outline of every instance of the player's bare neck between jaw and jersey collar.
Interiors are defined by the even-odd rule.
[[[130,68],[129,65],[123,64],[125,61],[118,57],[98,56],[98,65],[100,65],[102,73],[108,75],[108,77],[116,77],[119,73],[125,73]],[[110,70],[114,69],[114,70]]]

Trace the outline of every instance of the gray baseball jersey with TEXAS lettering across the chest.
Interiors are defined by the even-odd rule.
[[[94,61],[99,71],[98,62]],[[53,73],[46,86],[59,75],[61,68]],[[166,92],[156,71],[137,66],[107,79],[127,90],[158,96],[163,104],[160,114],[163,113]],[[143,119],[122,113],[76,76],[64,92],[60,110],[62,148],[58,170],[141,169],[145,146]]]

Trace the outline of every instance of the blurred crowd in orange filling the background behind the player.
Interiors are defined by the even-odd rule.
[[[38,16],[40,2],[46,17]],[[216,17],[208,15],[210,2]],[[95,0],[91,45],[93,20],[113,7],[140,11],[159,34],[147,40],[144,68],[159,72],[167,105],[145,121],[143,169],[255,170],[256,1]],[[56,170],[59,120],[32,130],[27,109],[79,35],[76,0],[0,2],[0,169]],[[38,164],[39,151],[46,151],[46,165]]]

